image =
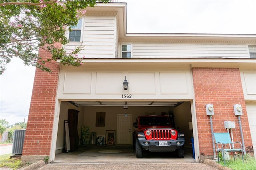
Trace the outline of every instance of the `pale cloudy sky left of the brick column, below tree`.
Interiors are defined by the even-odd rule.
[[[9,125],[23,122],[28,118],[35,67],[24,66],[18,58],[12,59],[0,76],[1,99],[0,119],[6,119]]]

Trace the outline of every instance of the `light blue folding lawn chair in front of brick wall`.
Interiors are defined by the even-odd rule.
[[[230,138],[230,134],[228,132],[224,133],[213,133],[214,134],[214,139],[215,139],[215,144],[217,146],[217,153],[218,153],[218,162],[220,162],[219,158],[219,152],[222,152],[222,156],[224,157],[224,152],[233,152],[234,160],[235,160],[235,152],[242,152],[242,160],[244,162],[244,154],[243,154],[243,149],[242,149],[242,144],[241,142],[232,142]],[[239,143],[241,148],[234,148],[234,144]],[[223,144],[231,144],[232,148],[224,148]],[[221,146],[221,147],[220,147]],[[225,165],[225,159],[223,158],[223,162]]]

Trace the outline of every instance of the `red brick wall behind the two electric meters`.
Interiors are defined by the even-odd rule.
[[[214,115],[212,116],[214,132],[227,132],[224,128],[224,121],[234,121],[236,127],[233,129],[234,141],[240,141],[241,143],[238,117],[234,115],[233,105],[242,105],[241,123],[244,144],[245,148],[252,147],[239,69],[192,68],[192,74],[201,160],[204,156],[213,156],[210,117],[206,115],[205,106],[209,103],[214,106]]]

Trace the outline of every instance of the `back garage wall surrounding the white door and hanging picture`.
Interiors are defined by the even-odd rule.
[[[123,109],[123,107],[96,107],[88,106],[84,107],[84,125],[90,127],[90,132],[96,132],[97,135],[105,136],[106,130],[116,130],[117,136],[117,115],[120,114],[131,114],[132,123],[136,121],[136,118],[140,115],[161,115],[161,112],[170,111],[170,107],[128,107],[128,109]],[[96,127],[96,112],[106,112],[106,122],[105,127]],[[135,130],[132,127],[132,132]],[[78,132],[81,132],[81,129],[78,129]],[[118,136],[117,136],[118,137]],[[117,138],[116,138],[117,142]],[[116,143],[117,144],[117,143]]]

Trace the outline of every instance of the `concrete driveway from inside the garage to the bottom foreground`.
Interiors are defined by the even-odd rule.
[[[106,152],[104,152],[106,151]],[[171,152],[144,152],[136,158],[131,147],[92,147],[57,154],[54,163],[39,170],[216,170],[218,168],[195,162],[188,152],[177,158]]]

